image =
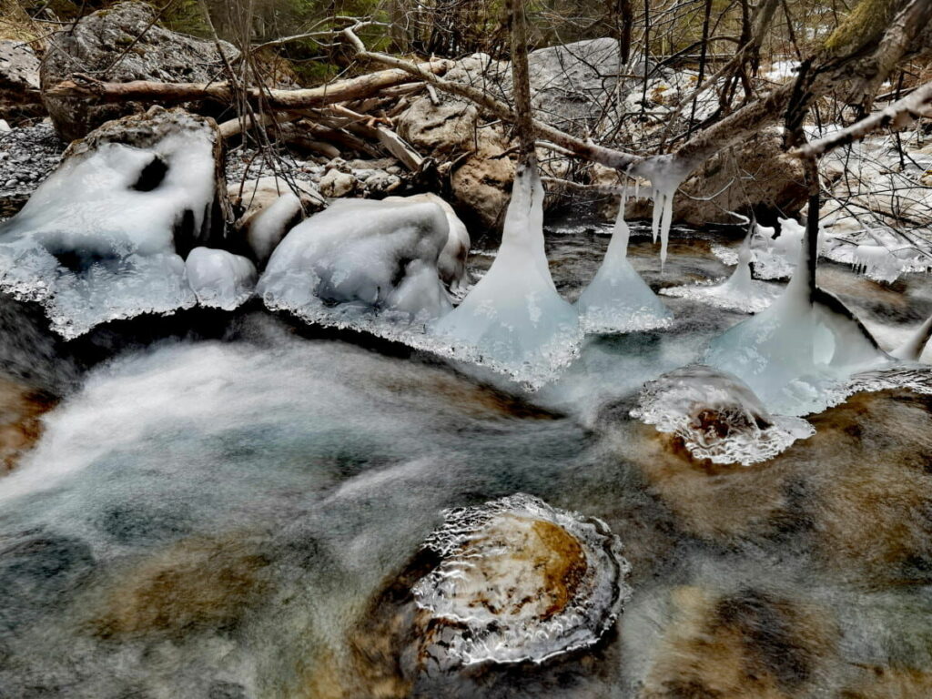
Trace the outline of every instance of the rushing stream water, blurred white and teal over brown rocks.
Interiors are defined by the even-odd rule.
[[[661,275],[632,228],[655,290],[730,271],[675,226]],[[569,301],[609,233],[548,230]],[[932,314],[923,275],[818,273],[885,348]],[[87,370],[7,330],[0,366],[62,401],[0,477],[0,697],[932,695],[932,397],[857,394],[775,459],[693,461],[629,411],[746,316],[663,301],[670,327],[589,337],[534,395],[257,306],[211,337],[107,330]],[[609,526],[624,613],[541,665],[412,674],[398,582],[445,508],[514,493]]]

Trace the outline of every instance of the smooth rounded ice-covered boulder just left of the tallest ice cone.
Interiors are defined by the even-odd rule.
[[[257,292],[308,322],[397,336],[451,308],[437,270],[448,236],[432,202],[337,200],[285,236]]]

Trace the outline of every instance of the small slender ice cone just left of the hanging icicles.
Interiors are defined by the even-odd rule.
[[[622,197],[609,249],[595,278],[583,290],[576,308],[589,333],[626,333],[665,327],[673,314],[628,262],[630,230],[624,221]]]

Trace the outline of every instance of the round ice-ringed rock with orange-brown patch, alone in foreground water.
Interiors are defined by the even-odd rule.
[[[430,654],[450,667],[541,663],[592,645],[631,594],[603,522],[525,494],[445,511],[424,547],[442,561],[413,595],[435,624]]]

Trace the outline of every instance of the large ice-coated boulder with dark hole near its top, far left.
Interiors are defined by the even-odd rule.
[[[175,243],[209,232],[213,130],[198,117],[151,114],[109,122],[73,145],[0,225],[0,291],[42,303],[67,338],[195,304]],[[124,132],[137,144],[118,143]]]

